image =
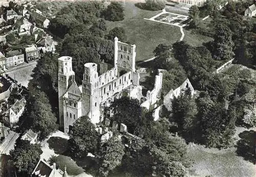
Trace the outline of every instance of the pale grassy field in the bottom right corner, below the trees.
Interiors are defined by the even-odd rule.
[[[236,138],[239,140],[239,136],[248,129],[237,127],[236,130]],[[188,154],[195,164],[190,169],[189,176],[255,176],[256,170],[253,163],[237,156],[236,150],[236,147],[219,150],[205,148],[201,145],[190,145]]]

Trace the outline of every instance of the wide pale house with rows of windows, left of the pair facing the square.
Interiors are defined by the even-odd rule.
[[[16,67],[24,64],[24,54],[18,50],[6,53],[6,67]]]

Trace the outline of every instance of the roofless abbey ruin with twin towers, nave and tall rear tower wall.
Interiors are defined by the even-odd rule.
[[[104,107],[123,92],[140,99],[139,74],[135,71],[136,46],[114,39],[114,67],[99,75],[96,63],[85,63],[82,85],[75,82],[72,58],[58,58],[58,101],[60,127],[69,132],[76,119],[89,116],[92,123],[103,120]]]

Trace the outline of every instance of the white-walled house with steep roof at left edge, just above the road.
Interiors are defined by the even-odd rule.
[[[23,97],[20,100],[16,100],[12,106],[7,104],[7,110],[2,108],[2,118],[4,123],[10,127],[15,126],[24,112],[25,105],[26,99]]]

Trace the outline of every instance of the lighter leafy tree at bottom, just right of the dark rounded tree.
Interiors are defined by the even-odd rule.
[[[124,145],[118,136],[114,136],[104,143],[99,149],[100,176],[108,176],[109,173],[121,165],[124,156]]]

